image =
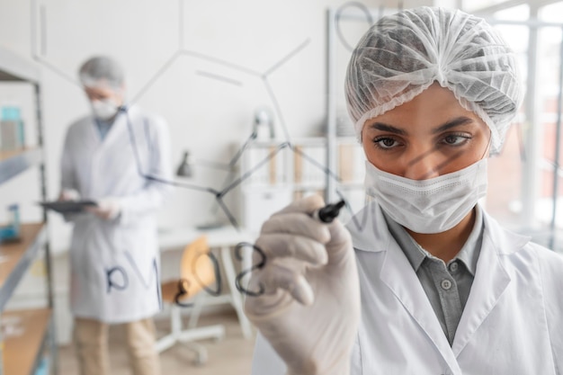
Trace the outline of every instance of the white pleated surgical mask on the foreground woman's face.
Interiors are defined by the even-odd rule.
[[[487,158],[451,174],[411,180],[366,161],[365,188],[391,219],[415,233],[458,225],[487,194]]]

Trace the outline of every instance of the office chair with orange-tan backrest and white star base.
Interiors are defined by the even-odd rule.
[[[220,340],[225,336],[225,326],[200,326],[183,329],[182,308],[198,306],[198,296],[204,287],[215,281],[215,269],[207,255],[210,247],[207,237],[201,236],[185,246],[180,263],[180,279],[165,281],[162,286],[162,299],[170,305],[170,333],[156,341],[156,351],[164,352],[176,343],[188,344],[195,352],[195,364],[207,362],[207,349],[194,341],[204,338]]]

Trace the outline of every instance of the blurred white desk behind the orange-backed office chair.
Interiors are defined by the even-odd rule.
[[[165,228],[158,233],[158,241],[161,252],[165,253],[179,247],[186,246],[197,237],[207,236],[210,248],[219,249],[219,262],[223,264],[228,282],[229,294],[219,297],[210,297],[201,301],[199,299],[194,306],[192,317],[190,317],[190,326],[195,326],[195,322],[201,312],[201,304],[215,305],[222,303],[230,303],[237,311],[238,322],[246,338],[252,336],[252,328],[243,308],[243,299],[241,293],[237,290],[235,272],[235,264],[231,256],[231,247],[237,246],[241,242],[254,243],[255,238],[245,231],[238,231],[233,227],[220,227],[213,229],[197,229],[197,228]],[[246,252],[245,252],[246,253]],[[251,257],[244,256],[242,267],[243,270],[250,269]],[[225,278],[223,278],[225,279]],[[201,303],[202,302],[202,303]]]

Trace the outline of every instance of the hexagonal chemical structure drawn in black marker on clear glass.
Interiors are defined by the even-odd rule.
[[[58,67],[56,67],[55,65],[49,63],[47,58],[44,58],[44,56],[46,55],[46,40],[45,40],[45,36],[44,36],[44,32],[40,32],[40,43],[38,43],[38,40],[35,39],[36,35],[37,35],[37,30],[35,30],[34,28],[38,27],[40,31],[44,31],[46,28],[46,9],[45,9],[45,5],[44,4],[37,4],[38,0],[33,0],[32,1],[32,9],[35,10],[35,12],[33,14],[37,15],[39,14],[39,16],[34,16],[34,19],[31,22],[31,27],[33,28],[33,30],[31,31],[31,36],[32,36],[32,40],[31,40],[31,55],[32,57],[40,63],[40,65],[42,65],[43,67],[47,67],[49,70],[51,70],[52,72],[54,72],[55,74],[57,74],[58,76],[62,77],[63,79],[66,79],[68,82],[72,83],[73,85],[76,85],[77,87],[80,87],[82,89],[82,85],[80,85],[76,79],[72,78],[71,76],[67,75],[64,71],[62,71],[61,69],[59,69]],[[180,14],[183,14],[183,0],[179,0],[179,7],[180,7]],[[371,15],[368,11],[368,9],[365,7],[365,5],[361,4],[361,3],[348,3],[348,4],[344,4],[343,6],[341,6],[338,10],[338,12],[336,13],[335,16],[335,22],[336,25],[338,25],[338,22],[340,21],[340,15],[342,12],[344,12],[344,10],[347,7],[356,7],[359,8],[362,12],[365,13],[366,15],[366,21],[369,22],[370,24],[373,22],[371,19]],[[39,20],[38,20],[39,19]],[[344,41],[344,37],[341,35],[340,30],[338,29],[338,36],[339,38],[343,41],[343,44],[345,46],[348,46],[347,43]],[[311,165],[313,165],[314,167],[318,168],[319,170],[321,170],[324,174],[326,174],[327,178],[331,178],[334,179],[335,182],[340,183],[342,180],[341,178],[338,176],[338,174],[335,174],[335,172],[331,171],[326,165],[322,165],[321,163],[317,162],[317,160],[315,160],[314,158],[310,157],[307,155],[307,153],[303,152],[302,149],[300,149],[299,147],[295,147],[291,141],[290,138],[290,133],[288,131],[288,127],[285,123],[284,120],[284,116],[283,113],[281,111],[281,106],[277,100],[277,97],[273,91],[273,87],[270,84],[270,77],[281,67],[283,67],[283,65],[288,62],[291,58],[293,58],[295,55],[299,54],[300,51],[302,51],[303,49],[305,49],[308,46],[309,43],[309,39],[304,40],[303,42],[301,42],[297,47],[295,47],[294,49],[290,50],[289,52],[287,52],[284,56],[282,56],[275,64],[273,64],[272,67],[266,68],[264,69],[264,71],[256,71],[247,67],[242,67],[242,66],[238,66],[236,64],[233,64],[227,60],[221,59],[221,58],[216,58],[216,57],[211,57],[208,55],[204,55],[201,54],[197,51],[193,51],[193,50],[189,50],[189,49],[185,49],[183,47],[183,17],[179,18],[179,45],[178,45],[178,49],[176,49],[174,51],[174,53],[172,54],[172,56],[170,58],[168,58],[165,62],[165,64],[160,67],[156,73],[149,77],[149,79],[147,80],[147,83],[145,85],[143,85],[141,87],[141,89],[139,90],[139,92],[137,94],[134,94],[132,96],[132,99],[130,100],[129,104],[133,104],[133,103],[137,103],[139,101],[139,98],[141,98],[144,94],[147,93],[147,91],[153,86],[155,85],[155,83],[158,81],[158,79],[163,76],[165,74],[165,72],[174,64],[174,62],[176,62],[178,59],[180,58],[193,58],[193,59],[198,59],[198,60],[203,60],[203,61],[207,61],[222,67],[228,67],[231,69],[234,69],[235,71],[248,75],[248,76],[253,76],[257,79],[259,79],[262,83],[262,85],[264,85],[265,88],[265,92],[267,93],[270,101],[273,103],[273,110],[277,116],[277,118],[280,121],[280,126],[281,126],[281,130],[282,130],[282,138],[280,139],[279,144],[277,144],[276,147],[273,148],[273,150],[266,156],[264,157],[264,159],[258,161],[255,165],[252,165],[244,174],[238,176],[236,179],[234,179],[232,182],[228,183],[226,187],[222,188],[222,189],[216,189],[212,186],[203,186],[203,185],[197,185],[197,184],[193,184],[193,183],[183,183],[183,182],[178,182],[178,181],[169,181],[166,179],[163,179],[161,176],[158,175],[151,175],[151,174],[147,174],[146,171],[143,168],[143,165],[141,165],[140,163],[140,158],[139,158],[139,149],[138,149],[138,141],[137,139],[135,139],[134,136],[134,132],[131,129],[131,124],[129,121],[129,115],[127,113],[127,107],[122,107],[120,109],[121,112],[124,112],[124,114],[128,117],[128,127],[129,127],[129,134],[130,134],[130,141],[131,141],[131,145],[133,147],[133,151],[135,152],[135,159],[137,162],[137,167],[138,167],[138,171],[139,174],[142,175],[144,178],[146,178],[147,180],[150,181],[155,181],[157,183],[166,183],[166,184],[170,184],[176,187],[181,187],[184,189],[188,189],[188,190],[192,190],[193,192],[204,192],[204,193],[209,193],[211,195],[213,195],[215,201],[217,201],[219,208],[224,212],[224,214],[227,216],[230,224],[234,227],[239,229],[239,225],[237,223],[237,219],[235,219],[235,216],[231,213],[231,211],[229,210],[227,204],[224,201],[224,198],[226,197],[226,195],[228,195],[229,192],[233,192],[233,190],[235,188],[237,188],[237,186],[239,186],[241,183],[244,183],[249,177],[251,177],[253,174],[255,174],[255,172],[257,170],[259,170],[260,168],[263,168],[264,165],[266,165],[267,163],[269,163],[269,161],[271,159],[273,159],[273,157],[275,157],[278,153],[281,152],[282,149],[289,149],[291,152],[293,152],[296,155],[299,155],[304,161],[310,163]],[[40,53],[37,52],[38,50],[38,44],[40,44]],[[231,77],[228,76],[222,76],[213,72],[209,72],[209,71],[203,71],[203,70],[199,70],[196,72],[197,75],[199,76],[203,76],[209,79],[214,79],[214,80],[218,80],[224,84],[227,85],[242,85],[242,83],[236,79],[233,79]],[[129,105],[128,104],[128,105]],[[251,143],[254,141],[255,139],[255,134],[250,134],[249,137],[246,139],[246,141],[244,142],[244,144],[242,145],[242,147],[240,147],[237,152],[235,153],[235,155],[231,158],[231,160],[226,164],[226,166],[229,169],[233,169],[240,157],[245,153],[246,149],[251,145]],[[344,194],[342,194],[341,192],[339,192],[336,189],[336,193],[340,196],[341,199],[343,199],[345,201],[344,198]],[[349,212],[352,214],[352,208],[350,207],[350,205],[346,202],[346,210],[349,210]],[[351,215],[353,216],[353,215]],[[362,226],[364,224],[360,223],[359,221],[355,222],[356,225],[358,226]],[[250,291],[250,290],[245,290],[242,286],[242,280],[253,270],[255,269],[259,269],[264,267],[265,263],[267,262],[266,256],[264,254],[264,252],[257,248],[257,246],[254,246],[252,244],[239,244],[239,246],[236,246],[235,248],[235,252],[237,255],[237,259],[239,261],[242,261],[242,252],[246,247],[251,247],[253,249],[254,252],[257,252],[258,254],[260,254],[261,257],[261,261],[259,263],[253,264],[251,269],[249,270],[243,270],[242,272],[240,272],[237,275],[237,289],[240,290],[243,293],[246,293],[247,295],[250,296],[256,296],[262,293],[262,290],[257,290],[257,291]],[[213,254],[209,254],[211,260],[213,261],[213,263],[217,263],[217,259],[214,259],[214,255]],[[219,273],[219,267],[215,267],[216,269],[216,281],[217,281],[217,289],[216,290],[209,290],[209,288],[204,287],[204,289],[206,291],[208,291],[208,293],[212,294],[212,295],[218,295],[218,293],[220,293],[220,283],[221,283],[221,277],[220,277],[220,273]],[[123,277],[125,278],[127,275],[123,275]],[[115,284],[115,282],[114,282]],[[115,287],[115,285],[112,284],[113,287]],[[185,294],[189,294],[189,286],[184,285],[182,281],[179,282],[179,295],[185,295]]]

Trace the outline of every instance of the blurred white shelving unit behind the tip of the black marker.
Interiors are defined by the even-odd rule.
[[[297,138],[292,147],[280,141],[255,141],[241,159],[242,225],[257,233],[264,220],[291,201],[309,194],[327,197],[333,187],[359,210],[364,201],[363,151],[355,138],[337,138],[335,167],[327,167],[326,138]],[[334,182],[334,180],[336,180]]]

